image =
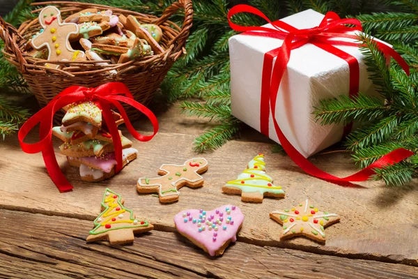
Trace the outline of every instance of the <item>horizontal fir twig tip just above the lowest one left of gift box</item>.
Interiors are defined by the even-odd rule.
[[[228,105],[209,105],[185,100],[180,104],[182,112],[188,116],[203,116],[210,120],[225,120],[231,118],[231,107]]]

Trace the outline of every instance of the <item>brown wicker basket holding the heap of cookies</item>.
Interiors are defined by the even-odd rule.
[[[160,45],[165,51],[162,54],[143,57],[123,64],[97,66],[95,61],[51,61],[51,63],[61,64],[63,67],[61,70],[47,68],[45,67],[47,61],[34,58],[24,52],[24,45],[40,29],[38,18],[24,22],[16,30],[0,17],[0,37],[5,42],[5,47],[2,50],[4,57],[22,73],[41,107],[45,107],[49,100],[52,100],[68,86],[95,87],[107,82],[123,82],[130,89],[135,100],[143,105],[148,105],[153,100],[155,91],[160,87],[174,61],[185,53],[185,43],[189,36],[189,29],[192,27],[192,0],[178,0],[164,10],[160,18],[91,3],[63,1],[36,3],[36,6],[49,5],[59,8],[63,19],[86,8],[98,8],[99,10],[111,9],[115,15],[133,15],[137,17],[139,22],[157,24],[164,33]],[[180,8],[184,9],[185,15],[181,28],[168,20]],[[33,13],[39,13],[41,9],[33,10]],[[117,70],[117,74],[110,73],[111,70]],[[131,120],[137,119],[139,116],[137,110],[130,106],[126,106],[125,110]],[[63,114],[58,116],[62,117]]]

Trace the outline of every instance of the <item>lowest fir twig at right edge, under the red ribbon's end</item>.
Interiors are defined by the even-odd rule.
[[[380,169],[374,169],[376,174],[372,176],[372,179],[385,181],[388,186],[401,186],[412,181],[416,167],[415,164],[407,162],[387,165]]]

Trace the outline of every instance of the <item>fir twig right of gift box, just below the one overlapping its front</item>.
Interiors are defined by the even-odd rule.
[[[355,130],[348,135],[346,146],[352,151],[357,151],[373,144],[387,140],[398,126],[396,114],[387,116],[375,125],[362,130]]]

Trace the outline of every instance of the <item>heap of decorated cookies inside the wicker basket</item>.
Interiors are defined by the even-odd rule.
[[[97,65],[107,66],[108,61],[125,63],[164,52],[160,46],[162,29],[155,24],[141,24],[132,15],[88,8],[64,19],[58,8],[47,6],[38,20],[42,28],[25,46],[29,55],[37,58],[98,61]]]

